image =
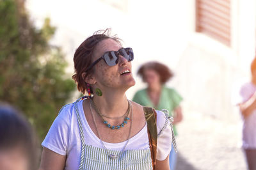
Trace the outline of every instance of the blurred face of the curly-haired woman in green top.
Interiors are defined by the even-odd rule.
[[[148,86],[161,83],[159,74],[152,69],[144,70],[143,79],[145,82],[147,82]]]

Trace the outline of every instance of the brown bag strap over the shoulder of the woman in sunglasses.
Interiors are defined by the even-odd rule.
[[[157,148],[157,130],[156,130],[156,111],[152,107],[144,107],[144,114],[147,121],[148,140],[152,159],[153,169],[156,169],[156,148]]]

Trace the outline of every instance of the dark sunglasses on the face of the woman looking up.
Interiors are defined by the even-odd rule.
[[[90,65],[85,72],[87,72],[88,70],[90,70],[94,65],[96,65],[97,63],[99,63],[99,61],[101,59],[103,59],[105,61],[105,63],[108,66],[115,66],[118,63],[118,58],[119,55],[123,56],[125,59],[127,59],[127,61],[132,61],[133,60],[133,51],[132,48],[122,48],[118,51],[108,51],[105,52],[105,54],[103,56],[101,56],[99,59],[97,59],[96,61],[94,61],[92,63],[92,65]]]

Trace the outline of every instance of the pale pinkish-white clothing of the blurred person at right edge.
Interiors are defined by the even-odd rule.
[[[252,82],[243,84],[239,90],[239,95],[236,97],[236,104],[249,100],[255,91],[256,86]],[[243,118],[243,148],[256,149],[256,110],[247,118]]]

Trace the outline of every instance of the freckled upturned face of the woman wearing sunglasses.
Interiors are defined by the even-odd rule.
[[[108,38],[99,42],[93,52],[93,61],[99,59],[105,52],[117,51],[121,49],[120,43]],[[132,77],[132,65],[123,56],[119,56],[115,66],[108,66],[102,59],[94,66],[93,77],[99,88],[122,88],[128,89],[134,86],[135,81]],[[128,71],[128,73],[124,73]]]

